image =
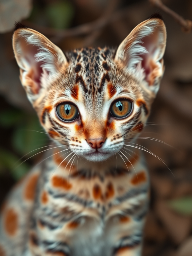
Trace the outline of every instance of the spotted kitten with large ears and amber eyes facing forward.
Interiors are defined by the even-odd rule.
[[[1,256],[142,254],[149,177],[135,139],[159,89],[165,46],[159,14],[117,50],[65,54],[16,24],[20,80],[53,142],[5,202]]]

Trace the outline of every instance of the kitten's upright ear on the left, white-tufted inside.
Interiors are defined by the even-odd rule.
[[[31,102],[54,79],[67,59],[60,48],[39,32],[17,23],[13,33],[13,50],[20,80]]]

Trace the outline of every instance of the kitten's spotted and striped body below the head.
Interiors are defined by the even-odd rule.
[[[138,156],[130,159],[135,170],[127,161],[130,173],[117,156],[117,168],[116,157],[86,168],[79,161],[70,174],[70,166],[57,168],[61,157],[55,156],[34,168],[9,198],[0,240],[6,255],[140,255],[149,197]],[[12,228],[10,210],[17,218]]]

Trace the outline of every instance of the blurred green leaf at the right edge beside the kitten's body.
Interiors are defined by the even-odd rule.
[[[179,214],[192,216],[192,197],[170,200],[168,206]]]

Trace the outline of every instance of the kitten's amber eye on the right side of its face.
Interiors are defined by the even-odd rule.
[[[132,103],[129,100],[116,100],[111,106],[111,114],[114,117],[125,117],[132,109]]]

